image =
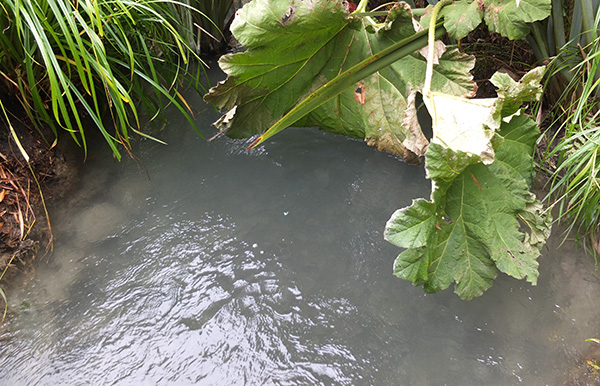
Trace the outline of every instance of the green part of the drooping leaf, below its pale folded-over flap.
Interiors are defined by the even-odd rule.
[[[396,259],[394,274],[428,292],[455,282],[463,299],[481,295],[498,270],[535,284],[536,259],[550,225],[528,190],[537,134],[524,115],[503,122],[489,165],[432,143],[426,155],[432,201],[415,200],[386,225],[386,239],[408,248]]]

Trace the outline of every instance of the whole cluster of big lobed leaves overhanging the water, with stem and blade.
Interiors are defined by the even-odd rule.
[[[394,3],[380,22],[365,13],[366,3],[352,13],[342,0],[246,5],[232,32],[247,51],[220,59],[228,77],[205,96],[229,110],[217,126],[233,137],[261,134],[256,144],[292,124],[318,125],[409,161],[425,155],[431,201],[399,210],[386,229],[388,240],[409,248],[396,274],[428,291],[456,282],[465,299],[489,288],[497,270],[535,283],[550,228],[529,192],[539,131],[520,108],[539,97],[543,69],[520,83],[497,74],[498,98],[466,99],[476,89],[474,59],[439,43],[434,49],[434,35],[444,32],[437,11],[419,23],[407,4]],[[519,3],[454,2],[443,8],[444,25],[460,38],[485,20],[492,31],[520,38],[526,23],[548,16],[550,1]],[[419,52],[426,24],[427,60]],[[417,93],[433,118],[431,143],[416,119]]]

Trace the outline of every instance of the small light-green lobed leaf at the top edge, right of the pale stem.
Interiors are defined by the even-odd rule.
[[[550,16],[551,0],[460,0],[444,7],[444,27],[455,39],[462,39],[483,20],[492,32],[511,40],[529,34],[529,26]],[[423,22],[422,22],[423,23]]]

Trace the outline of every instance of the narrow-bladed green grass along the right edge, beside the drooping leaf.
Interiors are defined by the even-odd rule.
[[[587,21],[589,24],[589,21]],[[600,252],[597,230],[600,225],[600,10],[591,29],[578,36],[578,50],[565,49],[554,60],[554,74],[569,71],[571,80],[556,108],[559,130],[551,139],[547,160],[556,169],[550,179],[548,198],[558,208],[558,219],[574,231],[576,240],[592,241]],[[572,63],[577,63],[570,68]]]

